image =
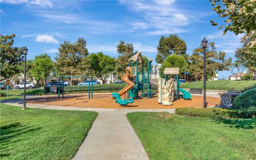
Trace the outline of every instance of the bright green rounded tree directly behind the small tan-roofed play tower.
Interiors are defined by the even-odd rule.
[[[185,69],[188,68],[188,62],[183,56],[170,55],[166,58],[162,66],[160,67],[159,75],[164,77],[164,68],[180,68],[180,73],[184,73]]]

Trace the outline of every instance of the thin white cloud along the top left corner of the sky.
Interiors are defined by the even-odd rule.
[[[6,4],[27,4],[27,5],[39,5],[40,7],[53,7],[53,4],[49,0],[1,0]]]

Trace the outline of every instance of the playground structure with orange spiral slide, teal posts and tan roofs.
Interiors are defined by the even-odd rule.
[[[147,69],[144,68],[144,61],[143,61],[142,55],[144,55],[147,59]],[[145,93],[147,94],[147,98],[151,98],[152,96],[151,85],[157,86],[158,96],[159,96],[158,102],[163,105],[172,105],[173,96],[175,95],[178,100],[179,92],[183,93],[184,99],[191,98],[191,95],[187,91],[183,90],[182,88],[179,88],[180,68],[165,68],[164,79],[163,79],[159,76],[151,74],[152,60],[142,52],[139,52],[133,55],[128,60],[128,62],[129,63],[128,63],[128,67],[126,68],[126,73],[122,76],[122,80],[126,82],[127,85],[120,92],[118,92],[119,97],[124,95],[124,100],[125,100],[126,92],[128,92],[128,99],[130,100],[130,102],[132,101],[131,98],[138,99],[139,91],[142,92],[141,94],[142,98],[145,97]],[[134,63],[136,63],[136,66],[134,65]],[[140,70],[139,70],[138,63],[141,63]],[[176,75],[177,80],[174,81],[174,79],[170,79],[167,81],[167,78],[169,75]],[[166,82],[168,85],[166,85]],[[136,84],[135,87],[134,87],[134,83]],[[113,95],[117,95],[117,94],[115,93]],[[116,97],[112,96],[112,98],[115,99]],[[119,100],[119,102],[121,101]]]

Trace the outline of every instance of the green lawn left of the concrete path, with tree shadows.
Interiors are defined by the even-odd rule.
[[[71,159],[97,112],[1,104],[1,159]]]

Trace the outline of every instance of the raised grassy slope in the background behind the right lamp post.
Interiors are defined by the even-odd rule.
[[[204,88],[204,81],[181,83],[180,88]],[[229,81],[229,80],[218,80],[218,81],[206,81],[206,89],[209,90],[246,90],[256,88],[255,80],[244,80],[244,81]]]

